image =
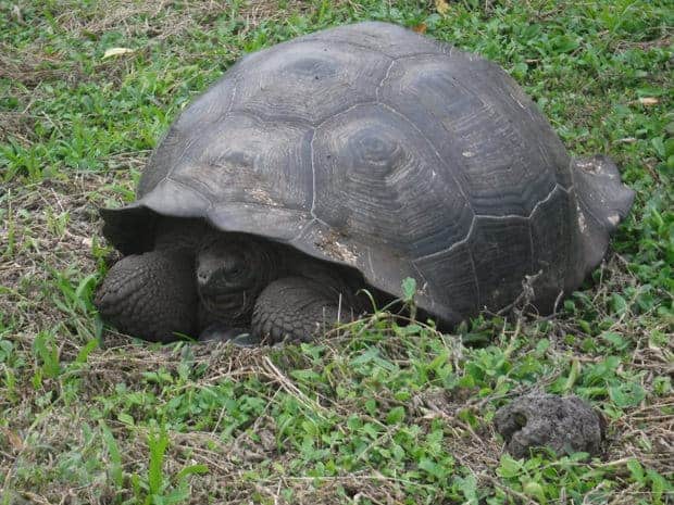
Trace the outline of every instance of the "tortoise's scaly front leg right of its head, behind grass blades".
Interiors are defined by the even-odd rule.
[[[269,343],[310,341],[337,321],[350,321],[352,307],[339,290],[304,277],[285,277],[260,293],[252,336]]]

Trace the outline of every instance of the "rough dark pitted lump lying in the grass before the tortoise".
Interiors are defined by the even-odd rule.
[[[577,396],[521,396],[501,407],[494,421],[515,457],[527,457],[536,447],[548,447],[558,455],[596,455],[604,437],[603,418]]]

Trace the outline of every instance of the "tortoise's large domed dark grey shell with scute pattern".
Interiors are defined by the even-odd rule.
[[[137,201],[103,210],[122,252],[157,215],[202,217],[348,265],[457,323],[533,276],[549,311],[602,258],[633,193],[607,159],[575,163],[498,65],[385,23],[242,58],[171,126]]]

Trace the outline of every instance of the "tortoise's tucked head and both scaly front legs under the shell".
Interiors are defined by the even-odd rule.
[[[353,273],[265,239],[192,224],[163,219],[153,251],[110,269],[95,302],[104,320],[151,341],[248,333],[236,342],[255,344],[308,340],[363,308]]]

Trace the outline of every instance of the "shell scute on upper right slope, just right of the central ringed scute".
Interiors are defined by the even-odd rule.
[[[379,97],[429,139],[476,214],[526,216],[556,186],[554,171],[522,131],[523,112],[506,113],[504,93],[469,80],[464,63],[459,55],[397,62]]]

